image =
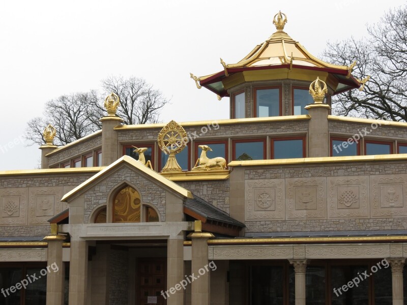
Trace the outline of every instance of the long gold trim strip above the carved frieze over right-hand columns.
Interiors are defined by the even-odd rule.
[[[264,245],[280,243],[336,243],[336,242],[405,242],[406,235],[397,236],[338,236],[338,237],[285,237],[285,238],[230,238],[209,239],[208,245]],[[192,241],[184,241],[184,246],[191,246]]]

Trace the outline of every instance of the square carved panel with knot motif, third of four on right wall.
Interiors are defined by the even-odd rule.
[[[328,218],[368,218],[368,176],[328,177]]]

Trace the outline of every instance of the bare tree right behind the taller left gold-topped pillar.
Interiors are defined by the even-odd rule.
[[[125,124],[157,123],[159,110],[169,103],[160,90],[137,77],[110,76],[102,80],[105,95],[113,92],[120,98],[118,115]]]

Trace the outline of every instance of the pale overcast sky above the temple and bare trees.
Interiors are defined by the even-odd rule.
[[[98,89],[109,75],[143,77],[171,104],[161,120],[228,118],[228,99],[198,90],[197,76],[236,63],[265,41],[273,16],[318,55],[328,40],[366,35],[366,24],[405,1],[2,1],[0,3],[0,171],[33,169],[38,146],[21,139],[44,103]],[[44,126],[45,128],[45,126]],[[11,144],[14,142],[15,144]]]

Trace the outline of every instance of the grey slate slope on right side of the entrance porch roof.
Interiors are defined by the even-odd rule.
[[[212,221],[219,221],[226,224],[235,225],[238,227],[245,227],[245,225],[233,218],[226,212],[206,202],[202,198],[193,195],[194,198],[188,198],[184,201],[184,206],[194,211],[196,214]]]

